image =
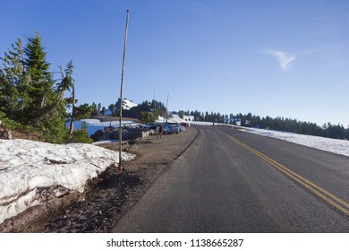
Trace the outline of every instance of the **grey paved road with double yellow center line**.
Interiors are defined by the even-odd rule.
[[[115,232],[349,232],[349,158],[226,126],[192,146]]]

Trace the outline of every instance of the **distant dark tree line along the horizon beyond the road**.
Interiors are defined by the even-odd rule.
[[[113,111],[114,116],[118,116],[120,100],[115,104],[111,104],[108,110]],[[95,103],[92,104],[92,115],[105,115],[106,108],[101,108],[100,103],[98,108]],[[295,134],[307,134],[328,137],[333,139],[349,139],[349,127],[345,128],[344,125],[332,125],[326,123],[322,126],[316,123],[303,122],[294,118],[285,117],[260,117],[256,115],[248,114],[221,114],[219,112],[200,112],[195,111],[172,111],[167,114],[166,107],[162,102],[157,100],[143,101],[137,107],[129,110],[123,110],[123,117],[132,117],[139,119],[141,123],[153,122],[158,116],[171,117],[171,113],[178,114],[179,117],[192,116],[195,121],[205,121],[212,123],[223,123],[230,125],[239,125],[246,127],[257,127],[261,129],[270,129],[275,131],[284,131]]]

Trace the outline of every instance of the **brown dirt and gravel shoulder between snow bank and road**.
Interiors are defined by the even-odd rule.
[[[195,127],[187,127],[180,134],[162,135],[161,139],[150,135],[125,144],[123,151],[137,157],[124,162],[122,171],[109,167],[88,182],[85,193],[67,195],[21,213],[5,221],[0,232],[110,232],[198,134]],[[118,143],[100,146],[118,151]]]

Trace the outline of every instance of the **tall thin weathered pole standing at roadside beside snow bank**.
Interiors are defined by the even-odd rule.
[[[120,107],[119,107],[119,170],[123,170],[121,151],[123,142],[123,128],[122,128],[122,117],[123,117],[123,70],[126,59],[126,45],[127,45],[127,28],[129,24],[129,10],[127,10],[126,25],[124,29],[124,43],[123,43],[123,69],[121,71],[121,87],[120,87]]]

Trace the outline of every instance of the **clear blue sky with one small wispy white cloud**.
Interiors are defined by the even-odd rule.
[[[347,0],[0,0],[0,55],[38,30],[53,71],[72,59],[79,104],[107,107],[127,9],[123,97],[349,124]]]

